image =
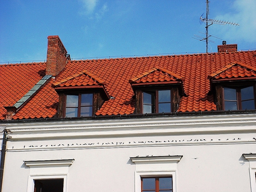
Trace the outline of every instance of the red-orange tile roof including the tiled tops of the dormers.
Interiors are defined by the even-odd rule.
[[[53,118],[59,102],[53,86],[100,84],[115,99],[106,101],[96,115],[132,114],[135,100],[130,82],[174,80],[183,82],[185,93],[178,111],[216,110],[209,78],[256,77],[255,68],[256,51],[68,61],[13,119]],[[6,115],[4,107],[19,101],[45,70],[46,63],[0,65],[1,120]]]

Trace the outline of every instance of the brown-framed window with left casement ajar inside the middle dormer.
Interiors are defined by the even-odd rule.
[[[143,114],[171,112],[171,90],[142,91]]]

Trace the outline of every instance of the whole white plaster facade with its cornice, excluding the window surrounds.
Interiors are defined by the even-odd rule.
[[[87,128],[80,131],[73,128],[72,134],[76,134],[70,137],[61,137],[69,133],[67,124],[64,130],[61,124],[48,124],[43,132],[36,131],[40,130],[40,124],[11,124],[9,128],[13,130],[13,138],[7,142],[3,192],[27,191],[30,168],[23,161],[70,158],[75,161],[68,168],[68,192],[130,192],[135,189],[136,170],[130,157],[168,155],[183,156],[176,172],[179,192],[250,192],[249,162],[242,154],[256,152],[256,141],[253,139],[256,136],[256,118],[251,116],[242,123],[239,120],[234,126],[234,119],[239,118],[231,116],[230,119],[219,119],[217,123],[223,122],[218,126],[216,124],[216,127],[212,126],[214,122],[211,121],[208,126],[200,119],[199,122],[204,122],[203,126],[193,122],[175,132],[175,124],[168,124],[172,122],[170,118],[162,119],[164,124],[160,120],[155,124],[155,119],[154,125],[148,125],[150,121],[146,119],[147,127],[137,124],[125,131],[125,120],[113,120],[105,122],[111,128],[106,129],[108,126],[105,124],[103,130],[97,130],[97,136],[93,136],[95,129],[98,129],[94,127],[97,122],[85,121],[80,123]],[[182,119],[180,121],[183,122]],[[69,126],[76,123],[79,122],[69,122]],[[94,123],[92,127],[90,123]],[[51,126],[60,128],[56,130],[56,139],[49,137],[55,134]],[[79,127],[83,126],[80,124]],[[122,133],[112,135],[118,129]],[[29,132],[32,132],[31,135]]]

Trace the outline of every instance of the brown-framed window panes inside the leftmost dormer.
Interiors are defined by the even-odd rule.
[[[92,116],[93,94],[77,94],[66,96],[65,116]]]

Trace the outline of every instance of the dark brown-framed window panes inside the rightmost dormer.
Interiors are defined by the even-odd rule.
[[[224,110],[254,110],[254,86],[224,87]]]

